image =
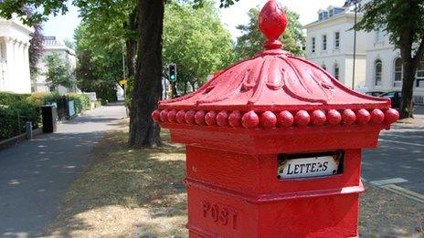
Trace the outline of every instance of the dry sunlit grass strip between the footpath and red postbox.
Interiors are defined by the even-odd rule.
[[[186,236],[185,149],[128,150],[126,141],[123,131],[101,141],[47,236]]]

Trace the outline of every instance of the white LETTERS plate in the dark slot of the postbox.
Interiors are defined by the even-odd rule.
[[[279,179],[332,176],[343,172],[343,153],[329,152],[279,156]]]

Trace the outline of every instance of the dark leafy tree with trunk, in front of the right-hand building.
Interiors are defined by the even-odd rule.
[[[357,29],[382,29],[400,49],[403,60],[401,118],[413,116],[413,89],[424,54],[424,2],[422,0],[371,0],[361,9],[364,18]]]

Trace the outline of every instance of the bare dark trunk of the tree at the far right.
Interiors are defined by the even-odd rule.
[[[414,93],[415,73],[417,71],[417,67],[414,65],[410,58],[403,62],[404,76],[402,79],[402,98],[400,102],[401,119],[411,118],[414,113],[412,97]]]

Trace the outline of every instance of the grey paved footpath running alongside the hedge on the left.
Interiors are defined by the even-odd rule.
[[[55,134],[0,151],[0,237],[37,237],[90,151],[119,127],[123,106],[107,106],[58,125]]]

